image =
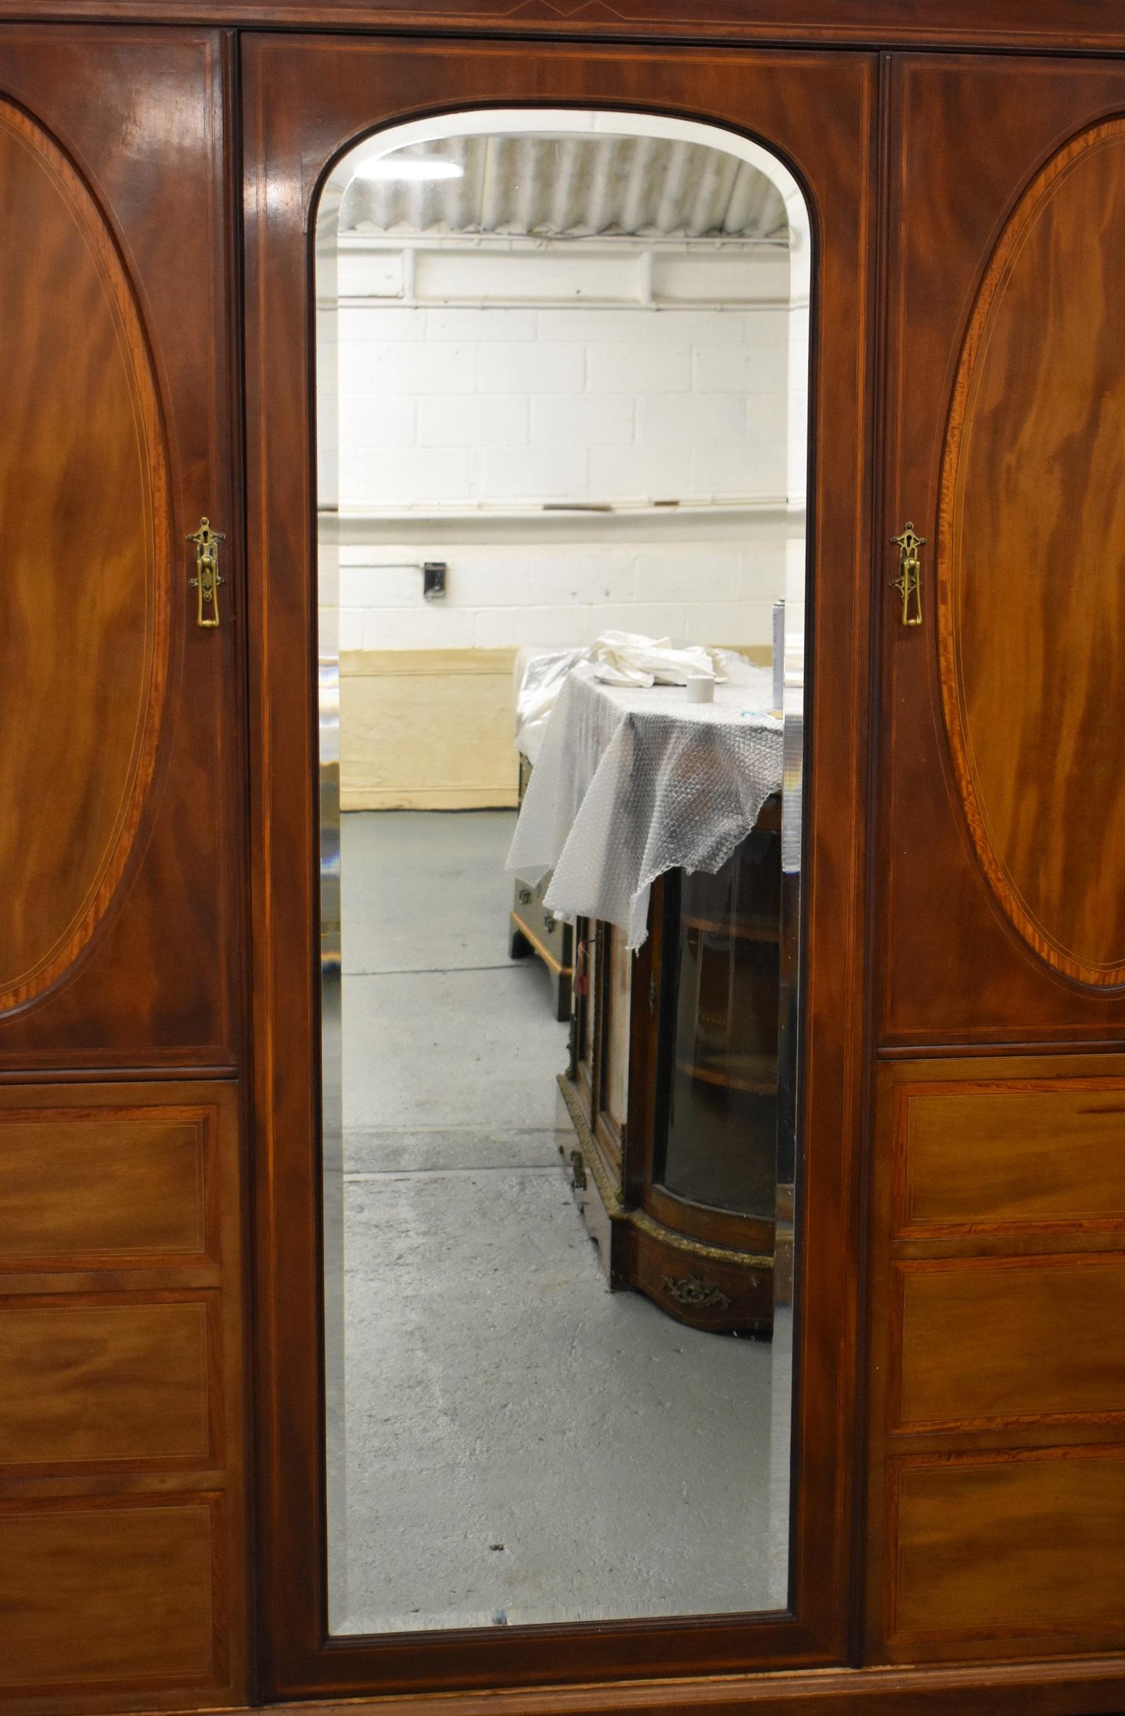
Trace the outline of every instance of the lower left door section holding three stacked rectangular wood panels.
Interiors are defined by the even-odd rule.
[[[5,1711],[247,1695],[242,1220],[233,1083],[0,1085]]]

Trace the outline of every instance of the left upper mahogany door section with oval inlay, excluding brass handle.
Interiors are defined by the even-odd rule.
[[[0,1072],[237,1052],[225,51],[0,26]],[[189,585],[202,513],[226,530],[220,631]]]

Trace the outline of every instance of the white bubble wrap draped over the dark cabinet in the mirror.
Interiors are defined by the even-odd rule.
[[[508,870],[559,918],[602,918],[640,947],[648,892],[665,870],[722,868],[782,784],[782,722],[772,674],[717,685],[689,704],[683,685],[623,690],[575,668],[550,712]]]

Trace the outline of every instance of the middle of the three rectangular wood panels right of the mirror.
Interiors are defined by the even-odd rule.
[[[895,1277],[899,1426],[1125,1412],[1125,1254],[914,1263]]]

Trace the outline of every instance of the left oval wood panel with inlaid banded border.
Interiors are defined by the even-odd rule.
[[[153,776],[168,475],[151,362],[105,220],[0,103],[0,1007],[93,937]]]

